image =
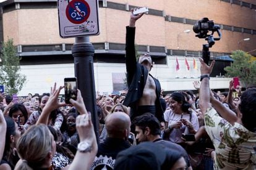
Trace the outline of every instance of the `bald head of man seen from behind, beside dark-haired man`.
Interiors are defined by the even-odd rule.
[[[124,112],[114,112],[105,119],[109,137],[127,139],[130,133],[130,117]]]

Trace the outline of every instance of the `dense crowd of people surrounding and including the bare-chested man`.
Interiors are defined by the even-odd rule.
[[[150,55],[135,57],[142,16],[131,12],[126,28],[128,90],[96,94],[98,137],[79,90],[71,104],[56,84],[18,102],[0,95],[0,169],[256,168],[256,89],[242,92],[230,81],[228,92],[211,91],[215,62],[199,58],[197,92],[165,94],[150,75]]]

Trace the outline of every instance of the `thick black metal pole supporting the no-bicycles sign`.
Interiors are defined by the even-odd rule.
[[[92,113],[92,122],[98,142],[98,115],[96,113],[95,82],[93,71],[94,47],[92,43],[90,43],[88,36],[75,38],[75,44],[72,47],[72,55],[74,57],[77,87],[82,93],[85,107]]]

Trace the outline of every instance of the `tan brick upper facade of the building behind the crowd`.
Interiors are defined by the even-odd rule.
[[[229,4],[222,1],[177,0],[177,1],[124,1],[112,0],[119,4],[131,6],[147,6],[151,9],[164,10],[166,15],[185,17],[193,20],[208,17],[215,23],[241,26],[256,30],[256,12],[254,9]],[[248,1],[250,2],[250,1]],[[255,1],[253,1],[255,3]],[[99,9],[99,36],[92,36],[92,42],[125,42],[125,26],[129,24],[130,12],[115,10],[108,7]],[[3,14],[4,41],[14,38],[14,44],[59,44],[73,43],[74,38],[59,37],[58,9],[17,9]],[[164,17],[145,15],[137,22],[136,43],[150,46],[166,46],[167,49],[177,49],[177,35],[184,30],[189,34],[180,34],[179,49],[188,51],[202,50],[204,39],[195,38],[192,25],[166,22]],[[244,51],[255,49],[256,36],[222,30],[223,38],[211,49],[213,52],[231,53],[238,49],[238,42],[244,38],[250,41],[241,42]]]

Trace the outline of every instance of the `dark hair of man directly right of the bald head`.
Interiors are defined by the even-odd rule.
[[[161,134],[160,123],[151,113],[144,113],[141,116],[135,117],[132,124],[134,124],[134,126],[139,126],[143,133],[145,132],[146,127],[149,127],[152,135],[155,136]]]

